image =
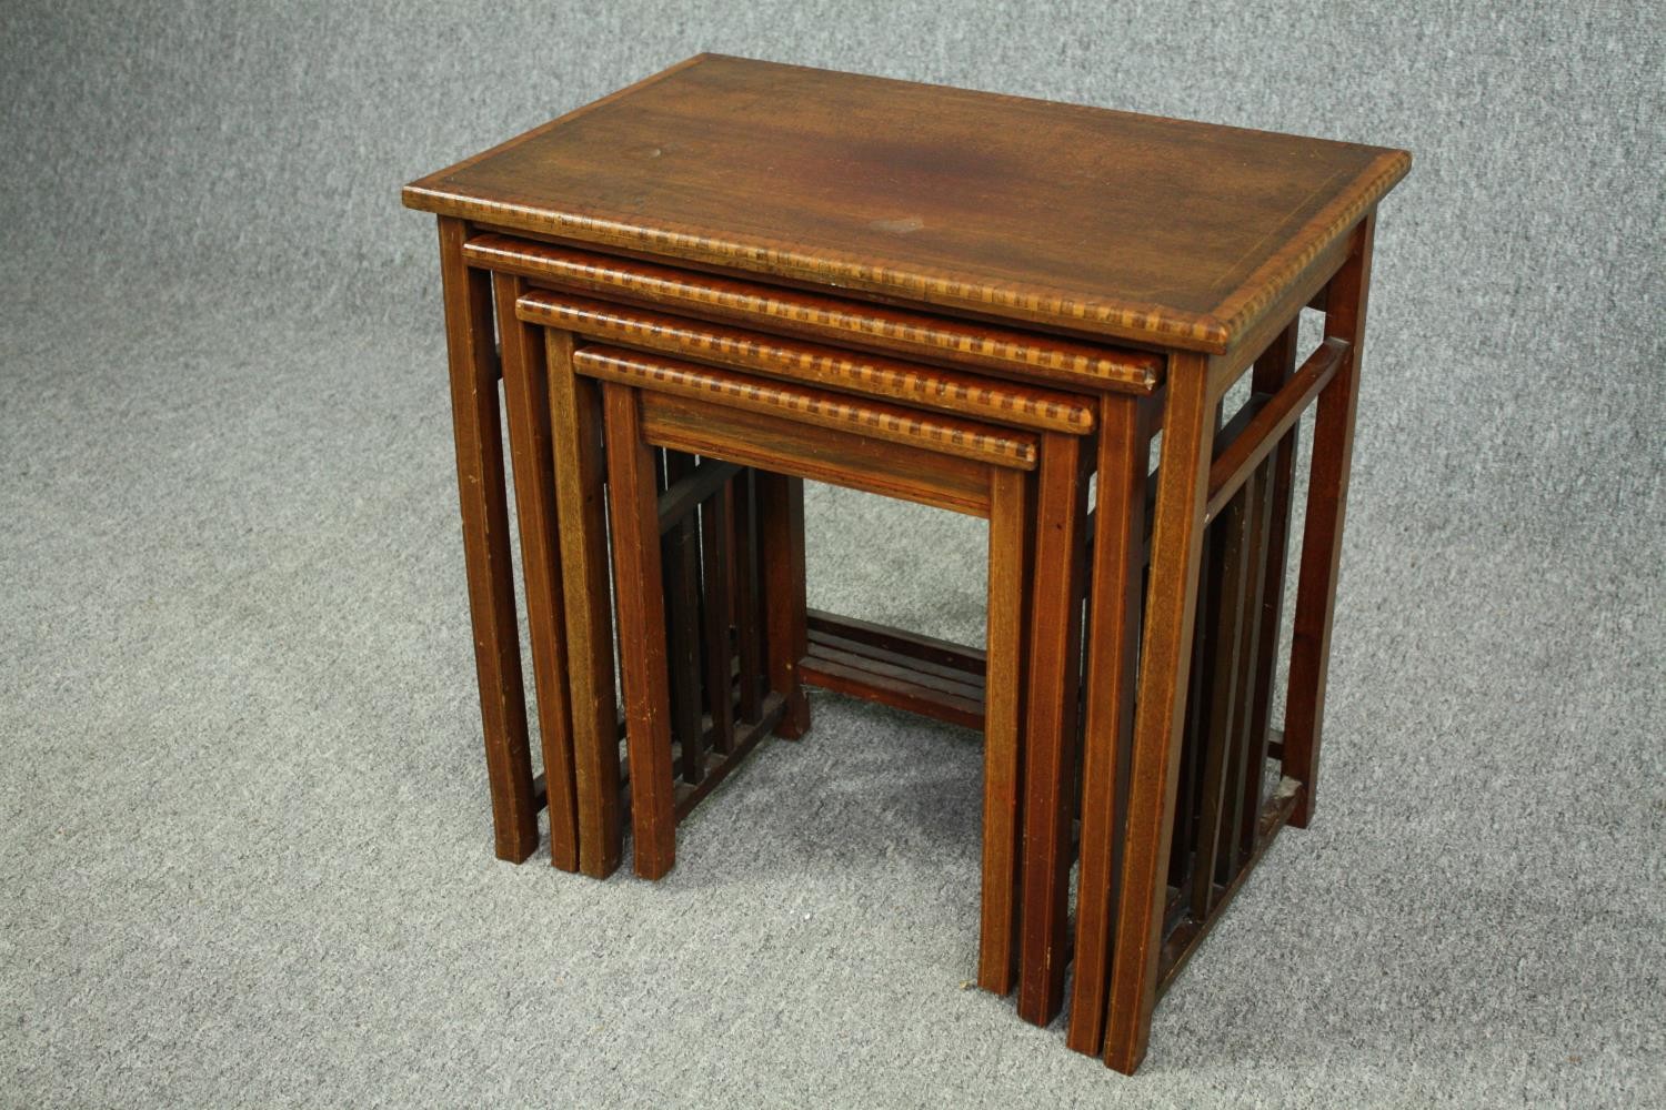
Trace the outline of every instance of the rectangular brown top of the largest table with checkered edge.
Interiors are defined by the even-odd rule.
[[[1225,353],[1411,155],[700,55],[405,186],[440,215]]]

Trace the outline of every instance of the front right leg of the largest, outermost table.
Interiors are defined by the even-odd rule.
[[[1105,1035],[1105,1062],[1126,1073],[1145,1058],[1156,1005],[1163,879],[1175,824],[1175,771],[1191,671],[1203,508],[1215,439],[1210,369],[1205,356],[1170,358]]]

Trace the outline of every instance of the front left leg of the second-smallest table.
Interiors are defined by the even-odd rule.
[[[566,602],[566,682],[573,726],[578,867],[611,875],[623,854],[613,607],[601,456],[601,391],[573,373],[573,336],[545,333],[555,501]]]

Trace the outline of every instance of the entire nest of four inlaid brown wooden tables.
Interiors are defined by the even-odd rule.
[[[407,186],[408,205],[441,216],[498,852],[531,850],[545,792],[561,820],[566,779],[556,766],[546,790],[525,751],[488,273],[503,281],[541,709],[563,631],[548,609],[566,609],[580,867],[618,859],[625,771],[600,388],[585,376],[598,373],[631,398],[608,408],[630,429],[626,444],[610,436],[625,486],[610,496],[615,511],[628,498],[636,541],[618,577],[660,604],[621,592],[618,617],[628,657],[660,641],[658,686],[633,689],[641,667],[626,667],[628,712],[655,709],[628,741],[638,869],[671,865],[676,819],[738,754],[803,731],[806,682],[981,726],[985,885],[1011,897],[986,890],[980,982],[1016,977],[1021,1015],[1056,1012],[1080,810],[1068,1040],[1133,1070],[1160,992],[1271,837],[1311,817],[1374,210],[1408,166],[1384,148],[703,55]],[[545,330],[553,514],[510,300]],[[1306,306],[1326,313],[1326,339],[1298,369]],[[1218,404],[1251,364],[1250,403],[1221,428]],[[1308,404],[1281,734],[1269,717]],[[648,444],[676,459],[665,489]],[[1005,569],[991,569],[990,657],[808,616],[805,478],[991,518]],[[556,576],[565,602],[550,601]],[[1284,777],[1266,799],[1269,757]],[[661,766],[675,774],[661,780]]]

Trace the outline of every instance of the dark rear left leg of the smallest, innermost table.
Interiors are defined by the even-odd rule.
[[[763,572],[765,669],[786,702],[775,734],[798,739],[810,727],[810,701],[798,662],[810,651],[805,617],[805,479],[756,473],[758,548]]]

